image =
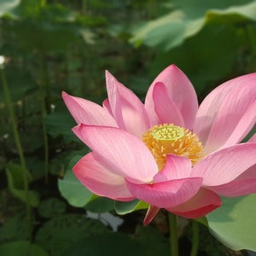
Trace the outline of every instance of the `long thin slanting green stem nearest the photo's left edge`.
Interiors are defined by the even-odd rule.
[[[15,110],[12,105],[11,96],[9,93],[9,87],[8,87],[7,81],[5,79],[3,66],[0,66],[0,76],[1,76],[2,86],[3,86],[3,95],[4,95],[6,105],[7,105],[8,111],[9,111],[9,118],[10,118],[12,130],[13,130],[13,134],[14,134],[14,138],[15,138],[15,144],[17,147],[17,151],[18,151],[18,154],[20,157],[20,164],[22,167],[23,187],[25,190],[25,198],[26,198],[26,218],[27,218],[27,224],[28,224],[28,228],[29,228],[29,236],[31,239],[31,236],[32,236],[32,212],[31,212],[31,207],[30,207],[30,203],[29,203],[30,198],[29,198],[29,187],[28,187],[28,176],[27,176],[28,169],[26,168],[26,160],[24,157],[21,143],[20,143],[20,135],[19,135],[19,131],[17,128],[18,125],[16,123]]]

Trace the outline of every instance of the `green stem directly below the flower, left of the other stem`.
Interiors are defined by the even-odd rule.
[[[177,238],[177,216],[168,213],[169,218],[169,231],[170,231],[170,245],[171,245],[171,255],[178,256],[178,238]]]

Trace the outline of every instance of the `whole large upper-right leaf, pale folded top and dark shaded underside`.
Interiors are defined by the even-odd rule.
[[[170,13],[137,27],[131,38],[132,44],[158,49],[149,67],[151,73],[159,73],[170,63],[177,64],[202,99],[224,78],[253,72],[255,1],[172,4]]]

